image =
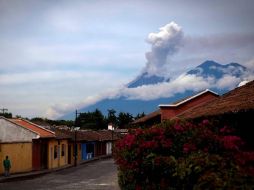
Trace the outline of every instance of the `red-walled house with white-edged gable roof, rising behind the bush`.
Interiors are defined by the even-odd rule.
[[[177,115],[189,110],[190,108],[204,105],[214,99],[217,99],[219,95],[209,89],[206,89],[193,96],[187,97],[183,100],[174,102],[172,104],[161,104],[159,109],[135,120],[132,124],[135,126],[149,127],[154,124],[161,123],[165,120],[175,118]]]

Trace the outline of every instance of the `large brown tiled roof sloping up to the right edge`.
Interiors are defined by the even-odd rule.
[[[196,118],[200,116],[218,115],[227,112],[254,109],[254,81],[224,94],[211,102],[191,108],[178,115],[180,118]]]

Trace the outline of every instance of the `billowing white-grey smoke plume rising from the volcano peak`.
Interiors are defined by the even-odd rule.
[[[161,28],[158,33],[150,33],[147,42],[152,45],[146,53],[147,64],[144,72],[150,75],[161,75],[167,66],[168,56],[174,55],[182,45],[183,31],[175,22]]]

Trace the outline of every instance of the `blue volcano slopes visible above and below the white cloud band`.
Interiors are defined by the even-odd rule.
[[[230,89],[226,87],[217,86],[216,84],[218,81],[221,82],[224,80],[225,76],[230,76],[237,79],[235,83],[233,83],[233,87],[237,87],[239,82],[243,80],[245,73],[246,73],[246,68],[237,63],[222,65],[214,61],[205,61],[204,63],[200,64],[196,68],[186,72],[184,75],[202,77],[202,80],[204,82],[212,81],[214,84],[209,84],[210,86],[207,86],[207,88],[210,88],[211,90],[219,94],[223,94]],[[127,88],[135,89],[143,85],[154,87],[156,86],[156,84],[160,85],[161,83],[165,83],[165,82],[170,83],[174,81],[169,82],[169,79],[167,78],[158,77],[158,76],[149,76],[147,73],[143,73],[142,75],[137,77],[135,80],[130,82],[127,85]],[[204,90],[204,89],[199,89],[199,90]],[[152,100],[128,99],[128,97],[124,96],[123,94],[121,97],[117,97],[113,99],[105,98],[94,105],[79,109],[79,112],[94,111],[96,108],[98,108],[99,110],[102,111],[103,114],[106,115],[108,109],[115,109],[117,112],[128,112],[135,116],[138,113],[144,112],[147,114],[152,111],[155,111],[156,109],[158,109],[159,104],[172,103],[179,99],[185,98],[187,96],[191,96],[195,93],[197,93],[197,90],[195,91],[192,88],[189,88],[187,90],[184,90],[181,93],[175,93],[173,96],[172,94],[168,95],[168,97],[160,96]],[[61,119],[73,119],[73,118],[74,118],[74,113],[69,113],[61,117]]]

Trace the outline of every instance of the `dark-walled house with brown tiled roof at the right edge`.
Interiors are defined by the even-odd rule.
[[[249,148],[254,148],[254,81],[237,87],[205,105],[193,107],[177,115],[178,119],[200,122],[207,119],[219,127],[230,126]]]

